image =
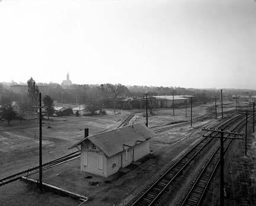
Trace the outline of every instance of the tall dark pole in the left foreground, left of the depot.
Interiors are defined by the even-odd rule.
[[[41,92],[39,93],[39,189],[43,191],[43,170],[42,170],[42,115],[41,115]]]

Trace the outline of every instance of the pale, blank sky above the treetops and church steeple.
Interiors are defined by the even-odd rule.
[[[2,0],[0,82],[256,89],[254,0]]]

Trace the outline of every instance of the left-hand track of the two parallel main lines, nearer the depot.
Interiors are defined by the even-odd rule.
[[[225,121],[222,123],[219,128],[228,128],[236,121],[238,121],[242,115],[236,115],[231,120]],[[216,134],[215,132],[211,132],[210,134]],[[139,198],[133,202],[132,206],[142,205],[158,205],[161,202],[161,199],[168,194],[169,191],[174,187],[178,178],[181,176],[183,171],[188,168],[190,162],[199,156],[199,153],[212,141],[217,141],[213,138],[203,138],[196,144],[196,146],[192,147],[188,150],[187,153],[183,157],[181,157],[174,165],[171,166],[160,178],[158,178]]]

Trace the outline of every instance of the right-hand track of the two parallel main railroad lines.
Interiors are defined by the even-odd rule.
[[[245,120],[242,120],[236,128],[238,131],[241,131],[244,128]],[[229,135],[232,136],[232,135]],[[224,139],[224,153],[228,149],[228,147],[232,143],[232,139]],[[218,145],[215,151],[210,156],[209,160],[204,165],[203,169],[199,173],[193,184],[189,188],[186,189],[185,194],[181,198],[181,202],[178,204],[179,206],[197,206],[201,205],[204,195],[206,194],[207,188],[210,185],[210,181],[212,180],[215,172],[220,163],[220,145]]]

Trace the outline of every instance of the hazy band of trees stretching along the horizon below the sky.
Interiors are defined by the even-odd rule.
[[[28,91],[26,94],[14,94],[7,86],[0,83],[0,105],[1,117],[9,121],[13,118],[22,120],[24,115],[33,114],[39,102],[39,88],[33,78],[27,81]],[[164,86],[125,86],[119,84],[104,83],[101,85],[72,85],[69,89],[63,89],[57,83],[44,84],[49,86],[47,95],[43,97],[46,114],[49,118],[53,114],[53,100],[68,104],[84,104],[87,109],[94,114],[100,110],[104,112],[105,108],[114,108],[116,112],[117,99],[119,97],[133,97],[135,100],[142,98],[145,93],[149,95],[193,95],[194,101],[206,103],[213,101],[215,95],[219,95],[217,89],[194,89],[181,87]],[[224,91],[225,92],[225,91]],[[232,90],[226,90],[226,96],[232,98]],[[12,107],[12,102],[18,104],[19,112],[16,114]]]

